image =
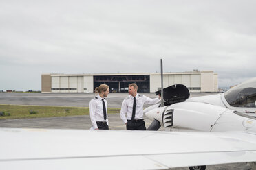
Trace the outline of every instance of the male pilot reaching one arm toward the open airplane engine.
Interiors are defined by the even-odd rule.
[[[145,121],[143,120],[143,105],[156,104],[160,101],[160,96],[151,99],[138,94],[137,90],[138,86],[136,84],[129,84],[129,96],[122,101],[120,117],[127,130],[146,130]]]

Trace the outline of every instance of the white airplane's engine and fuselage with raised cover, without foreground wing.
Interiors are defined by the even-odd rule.
[[[153,121],[149,130],[158,130],[161,125],[171,130],[256,132],[256,77],[218,95],[189,98],[189,90],[182,84],[163,92],[164,106],[156,104],[144,110]]]

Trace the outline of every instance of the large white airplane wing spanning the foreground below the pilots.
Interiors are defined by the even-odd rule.
[[[170,169],[256,161],[246,132],[0,128],[1,169]]]

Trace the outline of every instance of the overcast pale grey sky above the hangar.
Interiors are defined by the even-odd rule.
[[[256,1],[0,1],[0,90],[41,90],[42,73],[213,70],[256,77]]]

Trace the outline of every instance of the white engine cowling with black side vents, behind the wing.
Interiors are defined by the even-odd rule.
[[[175,130],[205,132],[253,130],[255,123],[254,119],[235,114],[233,110],[197,102],[181,102],[155,108],[146,112],[145,115],[152,121],[159,121],[163,127],[170,127]],[[230,123],[233,124],[229,125]]]

